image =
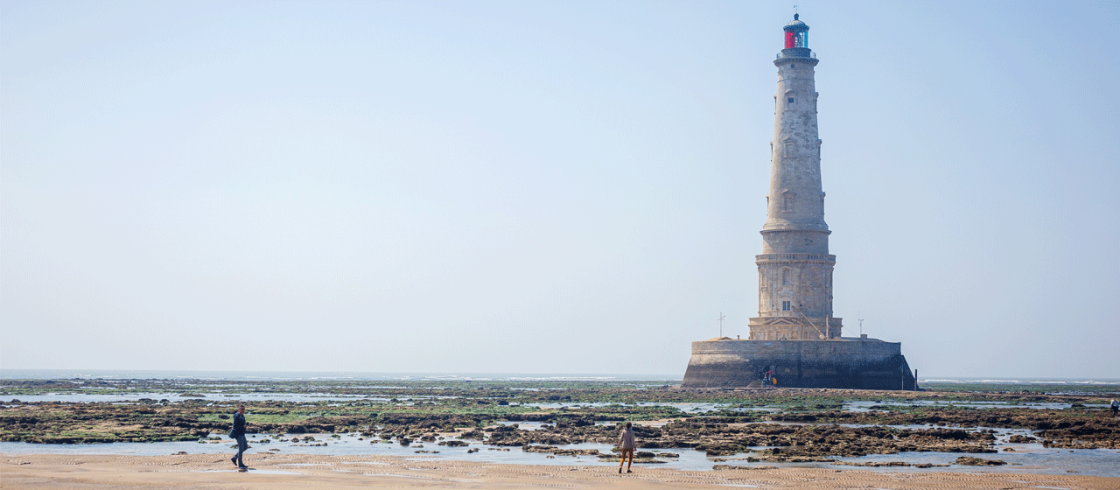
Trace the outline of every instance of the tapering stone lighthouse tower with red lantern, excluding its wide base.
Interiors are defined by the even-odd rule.
[[[754,340],[828,340],[840,337],[832,318],[829,225],[821,188],[821,140],[816,135],[816,58],[809,26],[797,15],[785,26],[774,97],[771,185],[758,264],[758,318]]]

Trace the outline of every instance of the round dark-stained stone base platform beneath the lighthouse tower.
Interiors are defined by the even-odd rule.
[[[773,370],[778,387],[917,389],[902,342],[868,338],[692,342],[685,388],[738,388]],[[757,385],[756,385],[757,386]]]

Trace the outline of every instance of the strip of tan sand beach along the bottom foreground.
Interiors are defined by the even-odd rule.
[[[1120,478],[936,471],[876,472],[781,468],[678,471],[635,467],[540,467],[392,456],[254,454],[237,472],[221,454],[167,456],[0,454],[0,489],[1116,489]]]

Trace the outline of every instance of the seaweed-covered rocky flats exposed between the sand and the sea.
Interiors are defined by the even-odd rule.
[[[40,381],[41,383],[41,381]],[[12,384],[25,392],[34,381]],[[202,387],[206,387],[203,385]],[[58,389],[57,384],[49,388]],[[138,389],[151,390],[153,386]],[[338,392],[318,385],[316,393]],[[752,461],[813,462],[837,456],[912,451],[995,453],[997,430],[1021,433],[1001,442],[1047,447],[1120,449],[1120,418],[1098,394],[864,392],[832,389],[682,390],[666,386],[585,384],[554,389],[506,385],[426,385],[362,388],[345,386],[347,398],[246,401],[249,431],[264,437],[298,434],[360,434],[363,439],[409,445],[461,445],[575,455],[569,444],[613,444],[618,424],[636,422],[643,456],[656,462],[673,449],[707,455],[749,454]],[[236,393],[179,394],[179,399],[131,402],[20,402],[0,405],[0,441],[95,443],[196,441],[224,434]],[[228,388],[226,388],[228,389]],[[9,392],[10,393],[10,392]],[[125,392],[127,393],[127,392]],[[361,397],[361,398],[356,398]],[[853,399],[883,404],[843,409]],[[950,401],[955,405],[943,405]],[[930,405],[930,402],[939,402]],[[1006,407],[969,407],[1004,403]],[[1036,408],[1015,404],[1068,404]],[[681,404],[708,404],[706,411]],[[532,425],[532,430],[519,424]],[[319,444],[328,442],[316,442]],[[597,451],[596,451],[597,453]],[[612,454],[600,455],[604,459]]]

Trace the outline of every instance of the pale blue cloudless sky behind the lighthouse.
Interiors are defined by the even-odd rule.
[[[1120,2],[797,3],[846,334],[1116,377]],[[0,2],[0,365],[681,376],[757,314],[792,15]]]

